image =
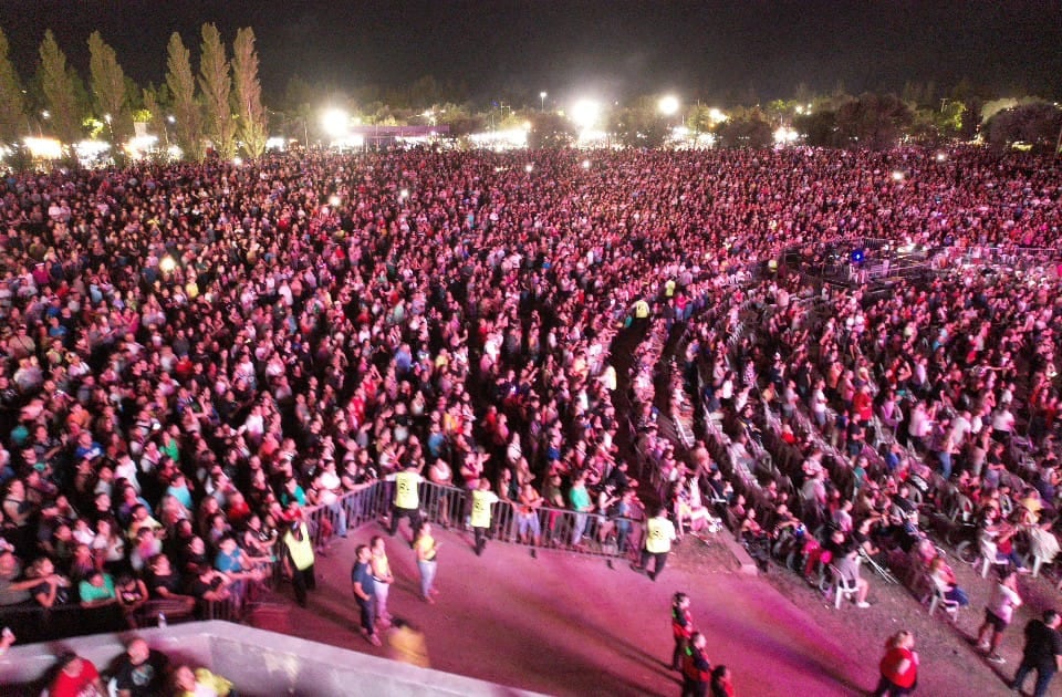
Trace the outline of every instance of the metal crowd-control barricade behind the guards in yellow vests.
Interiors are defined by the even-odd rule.
[[[353,530],[381,522],[392,516],[394,482],[378,480],[350,491],[334,503],[303,509],[304,520],[315,547],[329,541],[330,533]],[[471,491],[424,481],[419,487],[420,519],[448,530],[472,532]],[[514,501],[498,501],[492,507],[488,539],[529,549],[556,549],[576,554],[608,559],[634,558],[642,549],[645,516],[633,507],[626,516],[610,512],[579,512],[541,506],[528,510]],[[278,558],[287,551],[278,542]],[[278,571],[282,564],[278,563]]]

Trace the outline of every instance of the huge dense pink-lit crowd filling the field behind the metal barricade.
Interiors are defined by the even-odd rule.
[[[487,477],[521,510],[631,506],[617,438],[628,416],[650,430],[652,413],[616,413],[611,350],[647,314],[695,322],[709,399],[740,414],[766,392],[787,428],[806,402],[855,457],[871,416],[895,422],[988,506],[1013,465],[992,444],[1016,416],[1050,457],[1054,277],[971,267],[878,300],[835,291],[812,324],[804,277],[764,262],[862,238],[1053,248],[1056,175],[975,149],[309,153],[9,174],[0,605],[191,612],[268,573],[302,508],[409,466],[466,489]],[[778,311],[735,362],[723,341],[748,298]],[[649,391],[644,372],[632,387]],[[650,446],[677,469],[664,439]],[[697,455],[689,469],[709,468]],[[898,486],[910,467],[860,481]],[[1056,483],[1041,470],[1037,513]],[[607,496],[570,493],[583,487]],[[856,520],[882,508],[872,491],[845,492]]]

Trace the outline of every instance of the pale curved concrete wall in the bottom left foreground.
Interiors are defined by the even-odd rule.
[[[248,697],[532,694],[228,622],[14,646],[0,658],[0,686],[4,694],[18,694],[15,686],[39,682],[54,665],[54,656],[63,651],[74,651],[104,670],[134,635],[144,637],[174,662],[206,666],[223,675],[241,696]]]

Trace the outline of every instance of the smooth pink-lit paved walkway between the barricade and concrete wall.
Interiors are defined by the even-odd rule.
[[[405,530],[405,523],[403,523]],[[381,530],[366,527],[319,559],[310,606],[292,604],[296,636],[386,656],[357,634],[350,570],[354,549]],[[399,533],[400,534],[400,533]],[[437,604],[417,594],[413,552],[388,539],[397,582],[391,612],[424,632],[433,668],[555,695],[676,695],[670,659],[670,597],[686,591],[712,663],[733,669],[737,694],[851,695],[873,687],[878,646],[841,646],[771,585],[695,571],[673,554],[658,582],[604,560],[488,544],[438,531]],[[700,544],[688,539],[684,544]],[[280,592],[290,595],[287,585]],[[278,627],[283,628],[283,627]],[[868,665],[860,664],[871,652]]]

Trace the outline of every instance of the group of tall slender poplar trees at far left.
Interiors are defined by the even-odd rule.
[[[254,31],[237,31],[231,56],[218,29],[202,25],[198,71],[180,34],[169,38],[165,82],[139,87],[122,69],[114,49],[98,31],[88,37],[88,81],[66,61],[51,30],[38,51],[37,71],[25,85],[10,60],[0,30],[0,142],[49,135],[63,143],[85,137],[106,141],[116,156],[134,135],[134,123],[168,143],[171,126],[185,158],[201,160],[209,148],[231,159],[266,150],[268,119],[258,77]]]

